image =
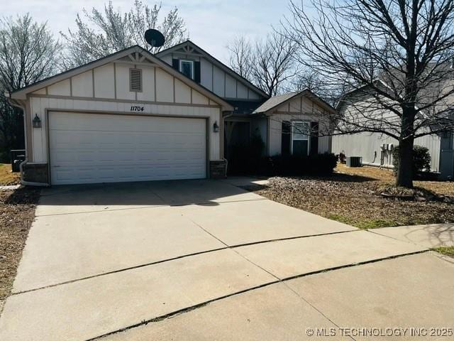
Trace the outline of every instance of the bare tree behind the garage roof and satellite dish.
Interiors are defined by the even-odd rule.
[[[104,13],[95,8],[90,12],[84,9],[83,18],[77,14],[76,31],[68,29],[67,33],[60,32],[66,40],[63,67],[89,63],[132,45],[157,53],[185,40],[187,31],[178,9],[172,9],[159,23],[160,11],[161,4],[149,7],[138,0],[126,13],[114,9],[112,1],[104,5]],[[165,36],[162,47],[153,48],[146,43],[143,35],[148,28],[155,28]]]

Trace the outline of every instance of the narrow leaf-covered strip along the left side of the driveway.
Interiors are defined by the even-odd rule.
[[[9,295],[35,217],[40,190],[0,190],[0,311]]]

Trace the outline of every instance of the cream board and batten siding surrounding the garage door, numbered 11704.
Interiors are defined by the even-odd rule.
[[[142,92],[131,92],[129,69],[142,70]],[[48,122],[46,112],[90,112],[126,115],[172,117],[204,117],[209,127],[221,124],[221,107],[159,67],[131,65],[121,62],[96,67],[62,80],[28,95],[30,119],[38,114],[41,129],[30,129],[33,142],[31,161],[48,162]],[[144,107],[143,112],[131,112],[131,106]],[[219,133],[209,131],[209,159],[221,158]]]

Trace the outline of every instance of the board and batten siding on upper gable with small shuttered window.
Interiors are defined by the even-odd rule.
[[[217,67],[209,60],[199,55],[173,52],[161,57],[165,63],[172,65],[172,59],[194,60],[200,62],[200,84],[226,99],[261,99],[262,96],[250,89],[243,82],[236,80],[228,72]]]

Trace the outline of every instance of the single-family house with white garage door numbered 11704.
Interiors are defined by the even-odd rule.
[[[267,155],[331,148],[328,137],[301,131],[321,132],[319,114],[332,107],[309,90],[268,98],[189,40],[156,55],[132,46],[10,101],[25,113],[23,183],[223,177],[228,146],[253,134]]]

